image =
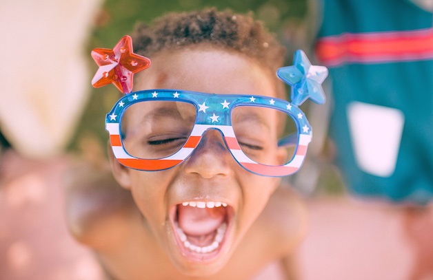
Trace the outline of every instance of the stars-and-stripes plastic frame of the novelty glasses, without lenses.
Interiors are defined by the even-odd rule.
[[[121,140],[123,113],[125,109],[135,103],[155,100],[181,101],[194,105],[197,110],[194,127],[188,140],[176,153],[159,159],[134,157],[125,150]],[[296,144],[296,149],[290,162],[281,166],[261,164],[254,162],[243,153],[234,135],[231,113],[235,107],[245,105],[277,109],[292,117],[296,124],[297,138],[291,135],[279,141],[280,146]],[[219,119],[220,117],[221,119]],[[218,124],[215,124],[215,122]],[[305,160],[308,144],[312,140],[312,127],[299,107],[283,99],[259,95],[205,94],[196,91],[174,89],[135,91],[125,94],[125,96],[120,98],[105,118],[105,130],[110,134],[110,145],[114,158],[124,166],[141,171],[161,171],[181,164],[192,154],[199,144],[203,133],[208,129],[216,129],[222,134],[226,147],[228,147],[234,160],[239,165],[256,175],[268,177],[283,177],[296,173]],[[297,142],[294,142],[293,139],[296,139]]]

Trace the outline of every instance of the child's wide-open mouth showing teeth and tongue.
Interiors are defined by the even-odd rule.
[[[232,207],[224,202],[183,202],[174,206],[172,224],[183,255],[197,261],[217,257],[225,244]]]

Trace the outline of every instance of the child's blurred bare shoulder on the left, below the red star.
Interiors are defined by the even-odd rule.
[[[128,234],[128,221],[137,213],[129,191],[111,171],[76,164],[63,180],[66,222],[72,236],[91,248],[114,246]]]

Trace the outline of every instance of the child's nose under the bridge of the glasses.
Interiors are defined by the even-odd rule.
[[[221,132],[208,129],[194,149],[190,158],[183,162],[183,170],[188,174],[201,175],[204,178],[228,176],[232,173],[234,159],[228,151]]]

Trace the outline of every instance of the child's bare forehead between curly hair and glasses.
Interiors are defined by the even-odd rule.
[[[157,53],[135,77],[134,90],[184,89],[276,97],[276,78],[244,54],[212,47]]]

